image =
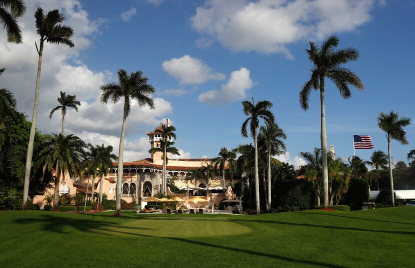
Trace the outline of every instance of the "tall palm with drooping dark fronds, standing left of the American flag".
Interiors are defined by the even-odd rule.
[[[337,87],[340,95],[348,99],[351,97],[349,85],[358,90],[363,90],[363,83],[360,78],[347,68],[340,67],[341,64],[354,61],[359,58],[359,52],[352,47],[334,50],[338,45],[338,38],[330,36],[318,48],[310,42],[310,49],[305,51],[308,59],[312,62],[310,79],[302,86],[299,92],[299,103],[305,111],[308,109],[308,98],[311,90],[320,90],[321,108],[321,159],[322,159],[322,179],[324,190],[324,208],[328,206],[328,174],[327,174],[327,134],[325,131],[325,108],[324,108],[324,77],[330,79]]]

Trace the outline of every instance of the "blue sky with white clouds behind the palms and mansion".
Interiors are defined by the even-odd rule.
[[[107,128],[90,126],[95,121],[94,116],[107,117],[107,108],[96,100],[98,84],[113,81],[119,68],[142,70],[156,88],[154,97],[159,99],[160,107],[150,114],[141,110],[130,114],[127,121],[130,143],[126,144],[130,150],[129,160],[146,157],[148,143],[142,137],[162,118],[174,122],[176,146],[185,157],[213,157],[221,147],[234,148],[251,142],[240,135],[240,125],[245,119],[241,100],[254,97],[272,101],[276,121],[287,134],[289,154],[280,159],[301,164],[296,157],[298,152],[311,151],[320,144],[318,93],[312,93],[308,111],[301,110],[298,102],[298,92],[308,79],[311,66],[304,49],[308,48],[309,40],[319,45],[322,39],[335,34],[340,39],[340,48],[352,46],[359,50],[360,59],[346,66],[360,76],[365,90],[352,89],[352,98],[344,100],[334,85],[327,82],[328,145],[334,145],[337,156],[347,158],[353,153],[351,133],[354,132],[371,135],[375,149],[386,152],[384,133],[376,125],[378,114],[394,110],[401,116],[415,119],[414,2],[338,1],[338,6],[346,8],[343,10],[332,1],[280,2],[240,0],[233,2],[235,6],[229,6],[219,0],[125,0],[116,3],[102,0],[99,4],[72,1],[71,8],[69,3],[56,3],[70,18],[68,22],[76,25],[75,32],[77,29],[82,32],[78,38],[85,44],[75,53],[64,49],[68,54],[56,63],[61,76],[51,77],[50,81],[60,83],[67,93],[76,91],[76,84],[70,84],[76,77],[71,76],[67,85],[59,82],[59,77],[64,75],[62,70],[77,67],[82,74],[90,72],[91,78],[86,77],[85,81],[95,81],[88,85],[90,88],[82,85],[79,93],[90,110],[70,113],[69,116],[82,119],[69,119],[67,127],[86,140],[111,143],[116,148],[122,114],[118,114],[119,121],[113,119],[117,118],[116,114],[108,115],[113,125]],[[39,1],[33,2],[33,6],[36,4]],[[306,6],[317,10],[316,13],[302,10]],[[76,21],[76,14],[85,16],[85,13],[83,23],[87,30]],[[295,16],[299,17],[294,19]],[[9,62],[12,60],[10,57]],[[16,64],[10,69],[19,72],[21,66]],[[7,87],[12,89],[11,75],[5,73],[4,77],[6,81],[10,79]],[[44,79],[41,85],[47,85],[48,80]],[[209,92],[212,90],[217,92]],[[45,109],[55,100],[53,94],[49,94],[51,104],[44,104]],[[22,94],[17,97],[24,103],[19,107],[31,114],[29,108],[25,110],[26,106],[30,107],[30,101],[24,102]],[[44,120],[45,123],[39,122],[42,132],[58,131],[58,121],[46,123]],[[406,131],[409,145],[392,142],[394,161],[406,162],[406,154],[415,148],[415,122]],[[356,150],[356,155],[369,160],[371,152]]]

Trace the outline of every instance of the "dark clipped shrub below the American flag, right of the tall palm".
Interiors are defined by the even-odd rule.
[[[364,179],[351,179],[348,191],[345,194],[344,203],[351,210],[360,210],[361,203],[369,200],[369,185]]]

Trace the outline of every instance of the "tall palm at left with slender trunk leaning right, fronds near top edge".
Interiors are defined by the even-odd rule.
[[[37,47],[37,44],[35,43],[39,58],[37,63],[36,86],[34,88],[33,115],[31,119],[29,143],[27,145],[26,166],[24,171],[23,210],[27,210],[27,197],[29,193],[29,178],[31,160],[33,156],[34,133],[36,131],[37,105],[39,103],[40,69],[42,65],[44,41],[52,44],[64,44],[69,47],[74,46],[73,42],[70,40],[73,35],[73,30],[69,26],[61,24],[65,17],[62,13],[59,13],[59,10],[50,10],[46,15],[44,15],[43,9],[41,7],[37,7],[36,12],[34,13],[34,17],[36,20],[36,32],[39,35],[39,47]]]

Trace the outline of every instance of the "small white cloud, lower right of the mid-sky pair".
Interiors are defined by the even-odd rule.
[[[253,81],[250,79],[249,74],[249,70],[244,67],[231,72],[229,80],[225,84],[222,84],[221,90],[203,92],[199,95],[198,100],[218,105],[245,98],[246,90],[253,86]]]

